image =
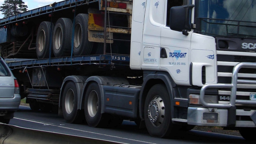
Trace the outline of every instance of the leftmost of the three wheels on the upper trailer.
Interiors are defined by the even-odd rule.
[[[53,35],[54,25],[43,21],[37,30],[36,52],[37,58],[49,58],[50,37]]]

